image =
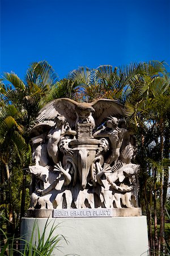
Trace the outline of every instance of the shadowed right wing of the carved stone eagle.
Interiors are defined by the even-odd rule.
[[[109,117],[109,115],[117,118],[124,116],[124,106],[116,100],[102,98],[90,104],[95,109],[93,116],[97,126],[99,126],[105,118]]]

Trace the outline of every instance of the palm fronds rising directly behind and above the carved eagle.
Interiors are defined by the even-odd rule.
[[[79,67],[70,72],[69,78],[76,82],[78,100],[93,101],[97,98],[114,98],[125,103],[130,86],[144,73],[141,63],[131,63],[119,68],[101,65],[96,69]]]

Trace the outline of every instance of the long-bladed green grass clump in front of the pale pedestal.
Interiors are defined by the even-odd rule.
[[[30,241],[27,241],[22,237],[15,238],[13,236],[12,238],[8,238],[5,232],[3,232],[3,230],[1,229],[1,232],[4,235],[6,242],[3,246],[1,246],[0,256],[5,255],[6,251],[8,251],[9,256],[53,255],[54,249],[59,250],[59,248],[61,247],[61,242],[65,241],[67,243],[67,241],[62,235],[54,235],[56,233],[56,229],[58,228],[58,225],[54,225],[54,223],[52,224],[52,227],[50,227],[50,231],[47,234],[47,228],[49,225],[50,221],[48,219],[45,223],[42,234],[40,234],[39,226],[37,225],[37,221],[35,221]],[[18,249],[17,247],[20,247],[20,249]]]

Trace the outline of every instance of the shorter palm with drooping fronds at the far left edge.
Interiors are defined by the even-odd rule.
[[[9,223],[14,224],[9,225],[10,232],[14,231],[15,227],[14,208],[17,201],[14,200],[12,192],[12,171],[16,161],[20,163],[19,166],[24,166],[30,153],[29,146],[23,138],[22,126],[16,121],[17,114],[18,110],[13,105],[3,108],[0,114],[1,186],[6,194],[5,198],[1,195],[1,204],[5,206],[6,212],[8,210]]]

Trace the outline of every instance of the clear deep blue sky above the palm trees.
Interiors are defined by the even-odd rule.
[[[170,64],[170,0],[1,0],[1,75],[153,59]]]

